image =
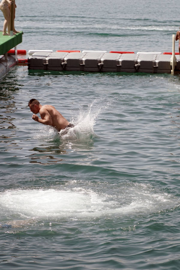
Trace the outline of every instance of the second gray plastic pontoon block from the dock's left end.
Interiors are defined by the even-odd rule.
[[[64,57],[68,52],[51,52],[48,57],[46,57],[47,70],[63,70],[64,67],[62,63],[64,62]]]

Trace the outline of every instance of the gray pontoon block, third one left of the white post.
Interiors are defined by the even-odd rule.
[[[120,71],[122,72],[136,72],[137,54],[135,53],[123,53],[119,59]]]

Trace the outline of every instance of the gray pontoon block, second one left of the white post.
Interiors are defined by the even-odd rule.
[[[138,72],[148,72],[156,73],[156,60],[158,59],[159,54],[138,54],[137,65]]]

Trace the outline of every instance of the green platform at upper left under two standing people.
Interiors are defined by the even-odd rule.
[[[22,42],[22,32],[16,33],[16,35],[3,36],[0,32],[0,55],[5,54],[13,47],[17,46]]]

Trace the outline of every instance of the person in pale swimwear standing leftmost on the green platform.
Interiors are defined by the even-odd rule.
[[[10,10],[8,8],[8,4],[12,4],[10,0],[2,0],[0,3],[0,10],[4,15],[4,26],[2,35],[10,35]],[[6,33],[7,29],[7,33]]]

